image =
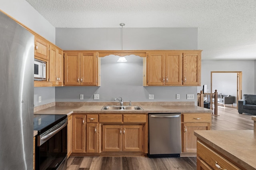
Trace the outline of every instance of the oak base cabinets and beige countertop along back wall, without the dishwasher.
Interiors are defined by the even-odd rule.
[[[124,106],[129,105],[124,102]],[[194,102],[132,102],[141,110],[102,110],[119,102],[55,102],[34,114],[68,115],[68,156],[144,155],[148,153],[148,113],[181,113],[182,154],[196,155],[194,130],[210,130],[212,110]],[[42,110],[41,110],[41,109]],[[108,138],[116,129],[118,139]],[[120,130],[122,129],[122,130]],[[125,129],[125,130],[124,130]],[[130,132],[130,133],[129,133]],[[122,135],[121,135],[122,134]],[[81,137],[82,135],[82,137]],[[126,138],[126,136],[129,136]],[[121,142],[112,145],[111,142]],[[135,142],[134,142],[135,141]],[[106,146],[106,144],[111,145]]]

